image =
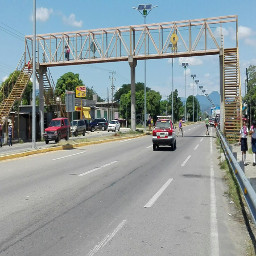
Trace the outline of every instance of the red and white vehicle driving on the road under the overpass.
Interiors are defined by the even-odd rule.
[[[171,150],[176,149],[176,134],[170,118],[158,118],[152,135],[154,151],[157,150],[159,146],[171,146]]]

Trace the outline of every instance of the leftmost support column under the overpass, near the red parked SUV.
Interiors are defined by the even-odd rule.
[[[40,134],[41,140],[43,140],[44,136],[44,79],[43,75],[46,73],[47,68],[39,66],[37,72],[39,74],[39,118],[40,118]]]

